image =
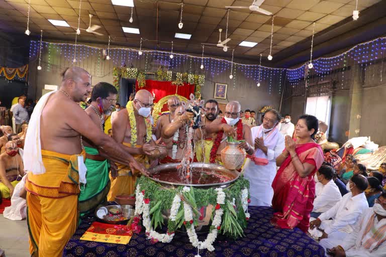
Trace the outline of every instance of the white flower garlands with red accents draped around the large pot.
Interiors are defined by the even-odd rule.
[[[189,192],[189,187],[183,187],[181,193]],[[186,231],[189,237],[189,241],[193,246],[198,248],[198,251],[201,249],[208,249],[209,251],[213,251],[215,247],[213,246],[214,241],[217,238],[218,231],[221,229],[221,223],[222,223],[222,215],[224,213],[224,210],[221,208],[222,204],[225,204],[225,193],[222,188],[216,188],[217,191],[217,204],[215,206],[215,216],[212,221],[213,229],[209,232],[207,239],[203,242],[199,241],[195,226],[193,224],[193,213],[192,209],[189,204],[186,202],[183,202],[183,210],[184,210],[184,222],[183,224],[186,226]],[[142,224],[144,225],[146,229],[146,235],[149,239],[151,239],[152,242],[163,242],[168,243],[170,242],[175,234],[175,231],[167,231],[166,234],[158,233],[151,227],[151,219],[150,219],[150,199],[144,198],[145,191],[141,191],[140,185],[137,185],[136,189],[136,201],[135,201],[135,212],[134,212],[134,219],[131,225],[131,228],[134,230],[134,232],[139,233],[141,231],[141,226],[138,225],[140,222],[140,215],[142,214]],[[234,199],[233,199],[234,201]],[[248,199],[248,189],[243,189],[241,194],[241,202],[242,207],[245,212],[246,219],[248,220],[250,217],[250,214],[248,213],[248,203],[250,200]],[[176,194],[173,198],[173,203],[170,208],[170,215],[169,220],[175,221],[176,216],[178,213],[178,210],[181,205],[181,196],[179,194]],[[201,257],[198,253],[195,255],[195,257]]]

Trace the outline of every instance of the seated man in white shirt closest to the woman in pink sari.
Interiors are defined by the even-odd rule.
[[[331,209],[342,199],[339,188],[332,179],[333,176],[334,168],[328,165],[322,165],[316,172],[318,182],[315,186],[316,198],[314,200],[314,209],[311,212],[311,217],[319,217],[320,214]]]

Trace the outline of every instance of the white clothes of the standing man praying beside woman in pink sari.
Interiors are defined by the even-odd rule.
[[[261,126],[261,125],[260,125]],[[266,134],[261,131],[257,135],[260,126],[252,127],[252,139],[255,141],[257,137],[265,139]],[[276,158],[284,150],[284,137],[280,133],[276,134],[276,144],[273,149],[268,149],[267,165],[256,165],[250,159],[247,159],[244,165],[244,177],[249,180],[249,193],[251,195],[251,203],[253,206],[271,206],[273,198],[272,182],[276,175]]]

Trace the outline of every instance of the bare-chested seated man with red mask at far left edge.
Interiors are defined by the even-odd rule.
[[[15,142],[7,142],[5,149],[0,155],[0,197],[11,198],[15,186],[24,176],[24,165]]]

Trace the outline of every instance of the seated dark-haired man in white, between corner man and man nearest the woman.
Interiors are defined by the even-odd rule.
[[[322,230],[319,244],[325,251],[327,248],[341,244],[343,239],[353,231],[360,215],[368,208],[364,195],[364,190],[368,186],[367,179],[357,174],[352,176],[347,184],[351,192],[345,194],[334,207],[310,222],[311,229],[319,227]]]

